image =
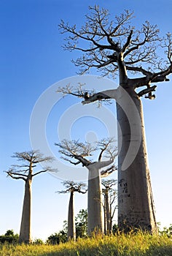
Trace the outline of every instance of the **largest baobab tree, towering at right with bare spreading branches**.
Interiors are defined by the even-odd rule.
[[[149,21],[140,29],[135,29],[131,26],[132,19],[133,12],[125,10],[110,20],[108,10],[95,6],[90,7],[86,23],[80,29],[62,20],[60,31],[69,34],[63,47],[82,52],[82,56],[73,60],[81,68],[80,74],[93,67],[101,71],[102,75],[112,78],[117,76],[119,86],[95,94],[72,86],[59,88],[58,91],[84,98],[82,104],[116,100],[120,128],[118,225],[126,232],[130,228],[141,228],[157,233],[141,97],[155,99],[153,91],[157,86],[152,83],[169,81],[168,75],[172,72],[172,39],[170,33],[160,37],[157,25]]]

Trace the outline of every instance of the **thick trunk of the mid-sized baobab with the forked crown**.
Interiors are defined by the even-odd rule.
[[[88,234],[103,232],[103,209],[101,175],[96,168],[90,168],[87,187],[87,231]]]

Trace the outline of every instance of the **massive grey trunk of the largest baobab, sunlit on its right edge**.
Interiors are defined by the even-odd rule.
[[[118,225],[120,229],[126,232],[131,228],[141,228],[150,233],[157,233],[141,100],[134,90],[126,89],[126,91],[130,94],[131,99],[124,102],[125,97],[120,94],[117,102],[120,148],[118,158]],[[135,106],[130,104],[132,101]],[[134,108],[136,109],[134,110]],[[129,114],[126,114],[127,109]],[[130,145],[132,145],[131,152],[128,152]],[[137,147],[138,150],[136,150]],[[132,163],[126,161],[127,153],[130,155],[130,159],[133,159]]]

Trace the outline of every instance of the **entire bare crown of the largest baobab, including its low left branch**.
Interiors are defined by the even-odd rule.
[[[100,9],[95,5],[89,7],[89,10],[90,15],[86,15],[85,25],[80,29],[76,25],[69,26],[63,20],[59,25],[62,34],[69,34],[63,48],[82,52],[82,56],[72,60],[80,68],[79,74],[95,67],[101,71],[101,75],[112,78],[119,75],[120,86],[127,84],[133,89],[146,86],[146,89],[138,93],[138,97],[147,94],[146,98],[155,99],[152,91],[157,86],[151,86],[151,83],[168,81],[167,76],[172,72],[171,33],[160,37],[157,25],[152,25],[147,20],[141,29],[136,29],[130,25],[134,16],[128,10],[115,16],[114,20],[110,20],[109,11],[104,8]],[[127,72],[138,73],[138,78],[128,78]],[[58,92],[83,97],[83,104],[111,98],[100,93],[88,94],[81,88],[71,92],[70,86],[60,88]]]

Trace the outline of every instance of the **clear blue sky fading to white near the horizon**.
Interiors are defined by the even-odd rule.
[[[71,24],[82,24],[87,7],[94,4],[107,7],[114,15],[125,9],[133,10],[136,25],[139,26],[145,20],[149,20],[159,26],[162,34],[171,31],[171,0],[0,1],[0,234],[7,229],[19,233],[24,184],[23,181],[7,178],[3,170],[7,170],[14,163],[14,159],[11,158],[13,152],[31,149],[29,122],[36,100],[52,84],[74,76],[77,72],[77,68],[70,60],[74,56],[79,56],[79,53],[63,51],[63,36],[58,31],[58,23],[62,18]],[[171,94],[172,82],[162,83],[158,84],[155,101],[143,99],[157,221],[163,226],[168,226],[172,222]],[[53,145],[58,140],[58,122],[62,118],[62,124],[64,127],[67,126],[68,121],[65,124],[63,112],[69,111],[70,106],[77,103],[79,99],[71,97],[64,101],[60,100],[47,119],[47,140],[54,154],[58,150]],[[44,104],[46,106],[46,102]],[[84,107],[80,105],[79,108]],[[106,135],[104,124],[93,116],[88,119],[84,120],[82,131],[79,129],[83,125],[82,118],[74,122],[71,126],[71,138],[79,137],[83,140],[85,135],[87,138],[101,138]],[[63,189],[60,182],[59,178],[48,173],[34,178],[34,238],[44,239],[58,232],[63,226],[63,220],[67,219],[69,195],[55,193]],[[86,197],[76,195],[76,213],[86,207]]]

